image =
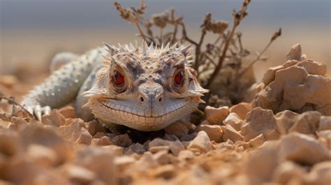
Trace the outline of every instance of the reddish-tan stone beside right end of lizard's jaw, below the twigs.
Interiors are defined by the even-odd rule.
[[[226,119],[229,113],[229,108],[227,106],[221,108],[213,108],[207,105],[205,108],[206,120],[209,124],[221,125],[223,120]]]

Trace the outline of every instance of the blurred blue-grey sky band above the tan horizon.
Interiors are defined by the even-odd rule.
[[[124,26],[111,0],[1,0],[1,29],[94,29]],[[137,0],[119,1],[124,7]],[[147,15],[175,7],[188,24],[200,24],[203,15],[231,19],[241,0],[147,0]],[[330,0],[252,0],[244,27],[330,25]]]

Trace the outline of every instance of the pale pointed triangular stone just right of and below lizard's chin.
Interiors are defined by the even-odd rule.
[[[214,147],[212,146],[212,142],[210,142],[210,139],[205,133],[205,131],[198,132],[198,135],[196,135],[196,138],[194,138],[187,149],[200,149],[200,151],[207,152]]]

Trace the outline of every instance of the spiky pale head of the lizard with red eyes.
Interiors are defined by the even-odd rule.
[[[188,47],[106,45],[109,50],[94,85],[84,96],[94,116],[139,131],[157,131],[204,103],[188,64]]]

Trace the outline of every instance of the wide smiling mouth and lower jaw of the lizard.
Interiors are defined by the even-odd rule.
[[[98,101],[105,109],[93,111],[94,115],[103,121],[121,124],[139,131],[158,131],[173,122],[182,119],[192,112],[192,101],[179,103],[177,106],[166,108],[163,114],[145,116],[141,111],[135,110],[128,106],[118,106],[109,101]],[[140,113],[140,114],[139,114]]]

